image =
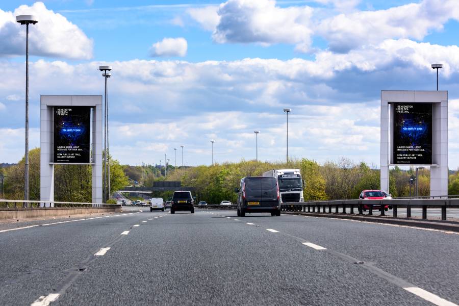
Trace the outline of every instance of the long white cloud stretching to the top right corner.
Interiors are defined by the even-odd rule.
[[[442,30],[449,19],[459,19],[457,0],[424,0],[387,10],[339,14],[324,19],[316,34],[335,52],[348,52],[385,39],[422,40],[432,30]]]

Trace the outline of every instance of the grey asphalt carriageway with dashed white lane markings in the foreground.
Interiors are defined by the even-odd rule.
[[[459,304],[456,233],[197,209],[68,221],[0,224],[0,304]]]

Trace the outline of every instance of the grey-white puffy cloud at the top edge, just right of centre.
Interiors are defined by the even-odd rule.
[[[213,38],[219,43],[290,43],[307,52],[312,14],[310,7],[280,8],[274,0],[229,0],[218,9]]]

